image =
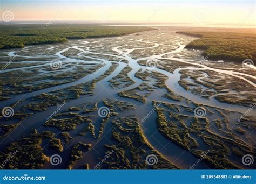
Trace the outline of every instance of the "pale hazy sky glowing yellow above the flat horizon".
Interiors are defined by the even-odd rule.
[[[1,20],[79,20],[255,26],[251,0],[0,0]]]

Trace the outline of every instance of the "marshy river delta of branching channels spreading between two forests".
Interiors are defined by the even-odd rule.
[[[252,168],[241,155],[255,153],[256,77],[185,49],[196,38],[176,31],[1,51],[1,65],[16,59],[0,74],[0,108],[14,110],[1,117],[0,150],[35,129],[43,153],[64,160],[44,169],[94,169],[106,155],[97,169]],[[152,154],[158,163],[146,165]]]

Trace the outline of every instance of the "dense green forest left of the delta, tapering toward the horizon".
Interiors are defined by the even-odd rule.
[[[100,25],[1,25],[0,49],[21,48],[25,45],[52,44],[68,39],[114,37],[140,31],[154,30],[144,26],[100,26]]]

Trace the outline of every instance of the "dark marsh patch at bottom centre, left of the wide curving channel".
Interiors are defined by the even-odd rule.
[[[103,162],[99,166],[101,169],[178,169],[147,142],[136,117],[121,117],[112,123],[114,144],[104,145],[107,157],[99,158]],[[157,164],[146,164],[146,157],[149,154],[156,155]]]

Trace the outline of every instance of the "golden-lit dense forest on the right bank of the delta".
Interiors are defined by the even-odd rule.
[[[256,34],[248,32],[227,31],[186,31],[177,32],[199,37],[186,45],[190,49],[203,49],[203,55],[214,60],[231,60],[241,62],[244,59],[256,61]]]

